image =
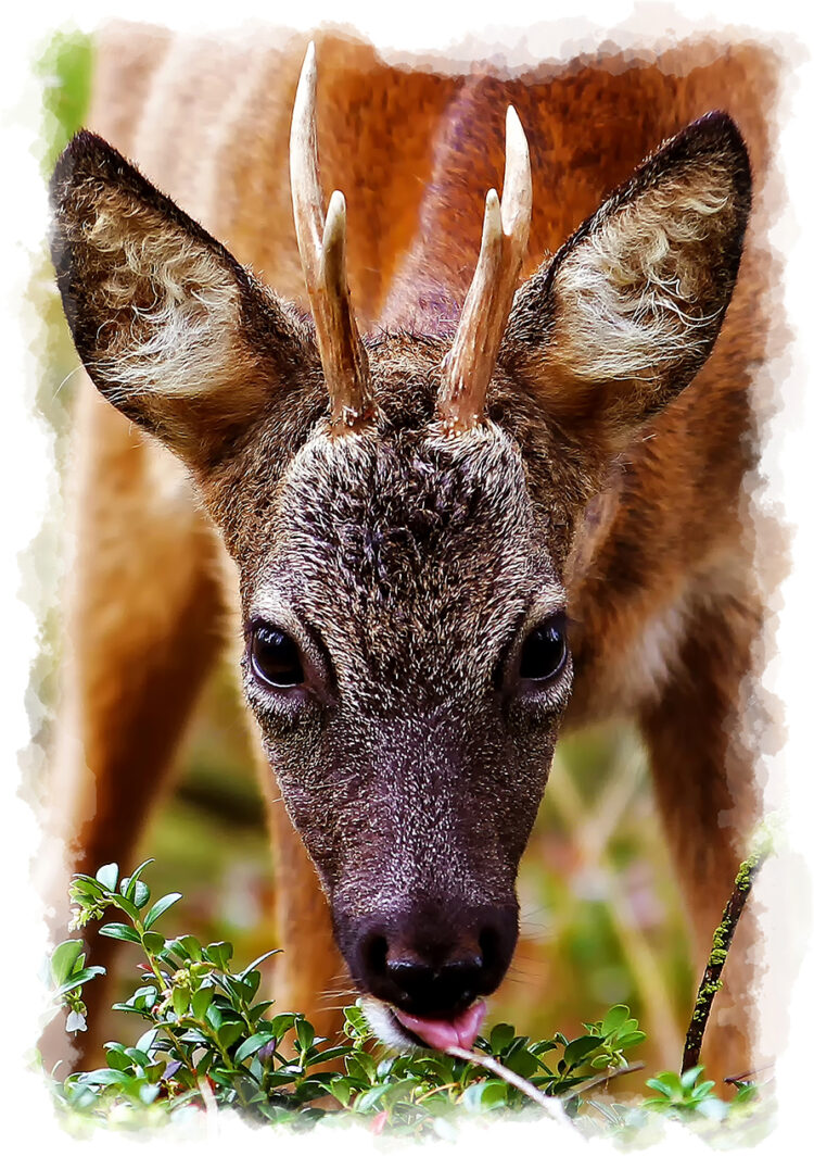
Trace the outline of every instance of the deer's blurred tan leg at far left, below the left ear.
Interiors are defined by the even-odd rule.
[[[78,442],[64,700],[40,867],[57,939],[65,935],[69,873],[109,862],[126,872],[134,862],[223,638],[217,546],[180,465],[86,383]],[[89,936],[89,945],[92,961],[107,964],[110,941]],[[83,1054],[93,1047],[106,981],[85,988]],[[50,1053],[48,1038],[43,1050]]]

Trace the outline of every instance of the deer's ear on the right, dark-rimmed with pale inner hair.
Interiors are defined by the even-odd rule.
[[[520,289],[501,361],[610,452],[709,357],[738,274],[751,177],[725,113],[647,159]]]

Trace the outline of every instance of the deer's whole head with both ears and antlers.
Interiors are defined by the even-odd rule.
[[[309,53],[291,174],[312,319],[90,133],[54,178],[54,258],[96,386],[187,464],[239,568],[245,697],[371,1016],[467,1043],[571,690],[575,526],[712,347],[749,162],[725,115],[694,123],[517,289],[510,110],[455,337],[361,339],[314,102]]]

